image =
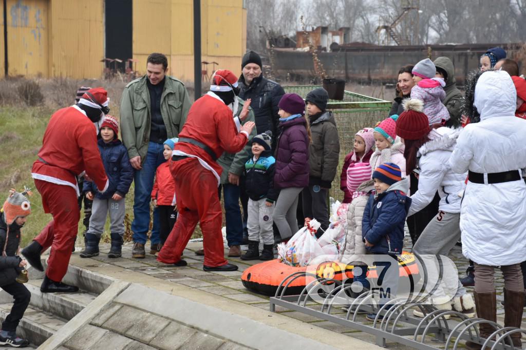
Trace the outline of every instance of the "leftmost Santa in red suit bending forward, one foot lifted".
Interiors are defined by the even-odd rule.
[[[107,95],[103,88],[89,89],[76,105],[56,111],[33,163],[35,186],[42,195],[44,211],[51,213],[53,220],[22,254],[35,269],[44,271],[40,255],[52,248],[40,287],[43,293],[78,291],[78,287],[61,281],[67,272],[80,218],[77,176],[85,172],[100,192],[108,188],[93,125],[109,112]]]

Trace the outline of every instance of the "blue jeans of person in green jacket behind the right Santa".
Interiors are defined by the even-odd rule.
[[[221,199],[221,187],[225,196],[228,246],[240,245],[243,241],[243,220],[239,209],[239,186],[230,183],[219,185],[219,199]]]

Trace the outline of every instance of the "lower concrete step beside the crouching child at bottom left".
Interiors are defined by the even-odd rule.
[[[5,317],[11,312],[13,303],[0,304],[0,318]],[[48,312],[29,306],[24,313],[24,317],[18,324],[16,333],[18,336],[28,339],[32,344],[40,345],[52,336],[60,327],[66,324],[64,318],[52,315]]]

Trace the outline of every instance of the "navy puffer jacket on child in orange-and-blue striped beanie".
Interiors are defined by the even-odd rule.
[[[374,244],[366,247],[371,253],[402,253],[403,225],[411,206],[411,198],[404,194],[408,191],[409,181],[404,178],[385,192],[369,197],[363,212],[362,240]]]

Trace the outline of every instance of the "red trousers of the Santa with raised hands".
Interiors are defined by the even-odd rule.
[[[199,222],[203,232],[204,265],[227,264],[221,234],[221,204],[217,195],[217,179],[196,158],[171,162],[179,217],[157,260],[173,264],[181,254]]]

